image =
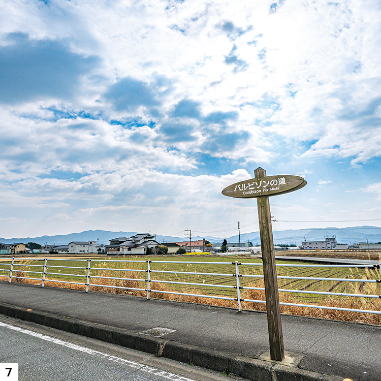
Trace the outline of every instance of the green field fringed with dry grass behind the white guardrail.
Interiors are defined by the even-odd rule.
[[[278,255],[278,252],[276,253]],[[77,258],[79,259],[79,258]],[[138,263],[122,262],[121,260],[137,260]],[[232,286],[236,285],[235,265],[232,263],[238,260],[240,263],[258,263],[261,261],[252,257],[221,258],[221,257],[151,257],[151,283],[150,297],[167,300],[177,300],[190,303],[219,305],[225,307],[237,308],[236,300],[224,300],[213,298],[215,296],[225,296],[230,298],[237,297],[237,290]],[[90,285],[89,291],[118,293],[146,297],[147,282],[146,269],[147,257],[123,258],[118,257],[115,262],[108,262],[111,258],[91,261]],[[156,262],[157,261],[157,262]],[[174,263],[165,263],[171,261]],[[183,264],[180,262],[201,262],[197,264]],[[203,262],[224,262],[224,264],[206,264]],[[288,263],[281,261],[282,264],[296,264],[296,262]],[[43,261],[23,261],[21,266],[17,266],[14,270],[12,281],[28,282],[41,284],[41,274],[27,273],[25,271],[41,271]],[[54,267],[60,266],[60,267]],[[75,269],[67,269],[62,266],[73,266]],[[7,265],[1,268],[6,269]],[[9,268],[9,265],[8,265]],[[72,289],[84,290],[85,285],[79,283],[86,282],[87,261],[48,261],[48,273],[46,286],[66,287]],[[6,270],[7,271],[7,270]],[[163,273],[168,271],[169,273]],[[205,274],[194,274],[196,272]],[[321,278],[343,278],[343,279],[379,279],[380,273],[378,269],[357,269],[357,268],[322,268],[322,267],[278,267],[278,276],[299,276],[299,277],[321,277]],[[5,271],[3,272],[3,274]],[[229,276],[215,275],[223,273]],[[245,275],[261,275],[262,266],[244,266],[240,265],[241,287],[263,288],[263,279],[248,277]],[[9,272],[8,272],[9,274]],[[1,275],[1,274],[0,274]],[[234,276],[233,276],[234,275]],[[22,279],[22,278],[38,278],[38,279]],[[110,279],[115,278],[115,279]],[[6,277],[0,280],[7,280]],[[64,283],[62,281],[72,281],[73,283]],[[164,282],[163,282],[164,281]],[[166,283],[171,282],[171,283]],[[178,284],[183,282],[188,284]],[[200,283],[195,285],[192,283]],[[226,286],[212,287],[212,285]],[[336,293],[352,293],[365,295],[381,295],[381,283],[368,282],[342,282],[336,280],[305,280],[305,279],[279,279],[278,287],[280,290],[298,290],[298,291],[317,291],[317,292],[336,292]],[[129,288],[130,290],[126,290]],[[141,290],[131,290],[141,289]],[[183,294],[170,294],[171,292],[181,292]],[[205,298],[200,295],[208,295],[211,298]],[[280,302],[293,304],[312,304],[321,306],[330,306],[338,308],[351,308],[363,310],[381,311],[381,301],[377,299],[368,299],[364,297],[345,297],[345,296],[328,296],[319,294],[301,294],[279,292]],[[265,292],[263,290],[241,290],[241,299],[265,300]],[[242,308],[253,310],[266,310],[264,303],[242,302]],[[301,306],[281,305],[281,312],[285,314],[294,314],[301,316],[320,317],[323,319],[333,319],[341,321],[361,322],[368,324],[381,325],[381,315],[365,312],[339,311],[323,308],[310,308]]]

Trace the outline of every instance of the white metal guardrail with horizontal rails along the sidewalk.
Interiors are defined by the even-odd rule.
[[[10,260],[10,258],[0,258],[0,261]],[[25,261],[33,261],[33,263],[25,263]],[[36,262],[43,262],[42,264],[36,264]],[[78,262],[82,262],[84,266],[61,266],[58,264],[53,264],[52,262],[59,263],[60,261],[65,262],[73,262],[76,264]],[[128,265],[129,263],[140,263],[145,266],[145,269],[129,269],[129,268],[116,268],[116,267],[100,267],[93,266],[91,264],[99,263],[100,265],[103,263],[125,263]],[[234,272],[226,272],[226,273],[215,273],[215,272],[197,272],[197,271],[169,271],[169,270],[153,270],[152,265],[154,264],[186,264],[186,265],[219,265],[223,266],[234,266]],[[248,287],[240,284],[240,278],[263,278],[263,275],[259,274],[246,274],[240,273],[239,270],[242,267],[246,266],[260,266],[262,267],[262,263],[241,263],[238,261],[235,262],[190,262],[190,261],[152,261],[152,260],[91,260],[91,259],[55,259],[55,258],[12,258],[9,262],[0,262],[0,276],[8,278],[8,281],[11,282],[15,279],[33,279],[33,280],[41,280],[41,285],[44,287],[46,282],[60,282],[60,283],[70,283],[70,284],[79,284],[84,285],[86,288],[86,292],[88,292],[90,286],[98,286],[98,287],[106,287],[106,288],[114,288],[114,289],[125,289],[125,290],[136,290],[146,292],[147,299],[150,298],[150,293],[163,293],[163,294],[174,294],[174,295],[184,295],[184,296],[195,296],[201,298],[212,298],[212,299],[224,299],[224,300],[233,300],[238,303],[238,310],[241,311],[242,305],[241,302],[253,302],[253,303],[266,303],[265,300],[255,300],[255,299],[245,299],[241,298],[241,290],[265,290],[261,287]],[[300,268],[368,268],[368,269],[380,269],[380,264],[371,265],[371,264],[361,264],[361,265],[300,265],[300,264],[277,264],[277,267],[300,267]],[[34,270],[37,271],[34,271]],[[51,269],[58,269],[57,272],[53,272]],[[61,269],[65,272],[61,272]],[[74,274],[69,273],[66,269],[75,269],[77,272],[84,272],[83,274]],[[49,270],[49,271],[48,271]],[[91,270],[93,274],[91,274]],[[128,278],[128,277],[117,277],[117,276],[103,276],[96,275],[94,271],[122,271],[122,272],[137,272],[137,273],[146,273],[147,275],[144,278]],[[31,274],[32,276],[26,276],[26,274]],[[35,275],[38,274],[38,275]],[[188,281],[175,281],[175,280],[163,280],[163,279],[153,279],[153,274],[181,274],[181,275],[202,275],[202,276],[218,276],[218,277],[231,277],[235,279],[235,284],[214,284],[214,283],[205,283],[205,282],[188,282]],[[380,273],[378,273],[378,276]],[[38,276],[38,277],[37,277]],[[53,277],[54,276],[54,277]],[[69,279],[58,279],[57,277],[69,277]],[[73,281],[76,278],[82,278],[83,281]],[[381,279],[361,279],[361,278],[331,278],[331,277],[303,277],[303,276],[285,276],[278,275],[278,279],[291,279],[291,280],[317,280],[317,281],[334,281],[334,282],[361,282],[361,283],[381,283]],[[111,279],[111,280],[131,280],[142,283],[142,288],[132,288],[132,287],[123,287],[112,284],[101,284],[97,283],[96,279]],[[79,279],[81,280],[81,279]],[[17,281],[17,280],[16,280]],[[144,284],[145,283],[145,284]],[[165,283],[165,284],[176,284],[176,285],[191,285],[191,286],[201,286],[203,288],[218,288],[225,290],[235,291],[234,297],[229,296],[219,296],[219,295],[203,295],[203,294],[193,294],[186,292],[178,292],[178,291],[164,291],[164,290],[156,290],[154,284],[155,283]],[[144,287],[143,287],[144,286]],[[279,292],[284,293],[296,293],[296,294],[308,294],[308,295],[327,295],[327,296],[342,296],[342,297],[360,297],[360,298],[381,298],[381,295],[368,295],[368,294],[357,294],[357,293],[341,293],[341,292],[325,292],[325,291],[314,291],[314,290],[295,290],[295,289],[281,289],[279,288]],[[379,294],[381,293],[381,288]],[[325,305],[314,305],[314,304],[300,304],[300,303],[285,303],[280,302],[281,305],[288,306],[299,306],[299,307],[308,307],[308,308],[322,308],[322,309],[331,309],[331,310],[340,310],[340,311],[352,311],[352,312],[360,312],[360,313],[374,313],[381,314],[381,311],[376,310],[364,310],[364,309],[352,309],[352,308],[341,308],[334,306],[325,306]]]

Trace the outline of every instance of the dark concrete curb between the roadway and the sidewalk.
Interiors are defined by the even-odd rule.
[[[342,381],[342,377],[285,366],[277,362],[253,359],[239,354],[213,351],[164,338],[137,334],[101,324],[90,324],[69,316],[0,303],[0,313],[16,319],[75,333],[81,336],[125,346],[158,357],[193,364],[219,372],[239,375],[253,381]]]

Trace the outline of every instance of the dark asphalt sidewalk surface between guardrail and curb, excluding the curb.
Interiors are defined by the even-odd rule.
[[[17,305],[135,335],[155,327],[179,345],[261,359],[269,351],[265,313],[166,300],[0,282],[0,303]],[[301,369],[380,381],[381,327],[282,315],[285,351]],[[142,339],[144,335],[141,336]]]

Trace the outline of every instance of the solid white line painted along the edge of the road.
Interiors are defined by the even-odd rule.
[[[155,368],[152,366],[139,364],[135,361],[125,360],[125,359],[122,359],[120,357],[111,356],[111,355],[108,355],[107,353],[94,351],[90,348],[86,348],[85,346],[80,346],[80,345],[73,344],[73,343],[68,342],[68,341],[59,340],[59,339],[56,339],[54,337],[43,335],[42,333],[38,333],[38,332],[34,332],[34,331],[29,331],[29,330],[24,329],[24,328],[11,326],[9,324],[5,324],[2,322],[0,322],[0,327],[9,328],[9,329],[12,329],[14,331],[25,333],[25,334],[30,335],[30,336],[38,337],[42,340],[54,342],[55,344],[58,344],[58,345],[67,346],[68,348],[71,348],[75,351],[84,352],[84,353],[87,353],[89,355],[99,356],[99,357],[102,357],[104,359],[107,359],[107,360],[110,360],[110,361],[113,361],[113,362],[116,362],[119,364],[124,364],[124,365],[131,367],[131,368],[135,368],[137,370],[141,370],[143,372],[152,373],[152,374],[155,374],[157,376],[161,376],[161,377],[169,379],[171,381],[196,381],[192,378],[183,377],[183,376],[180,376],[178,374],[170,373],[170,372],[167,372],[165,370],[161,370],[161,369],[158,369],[158,368]]]

